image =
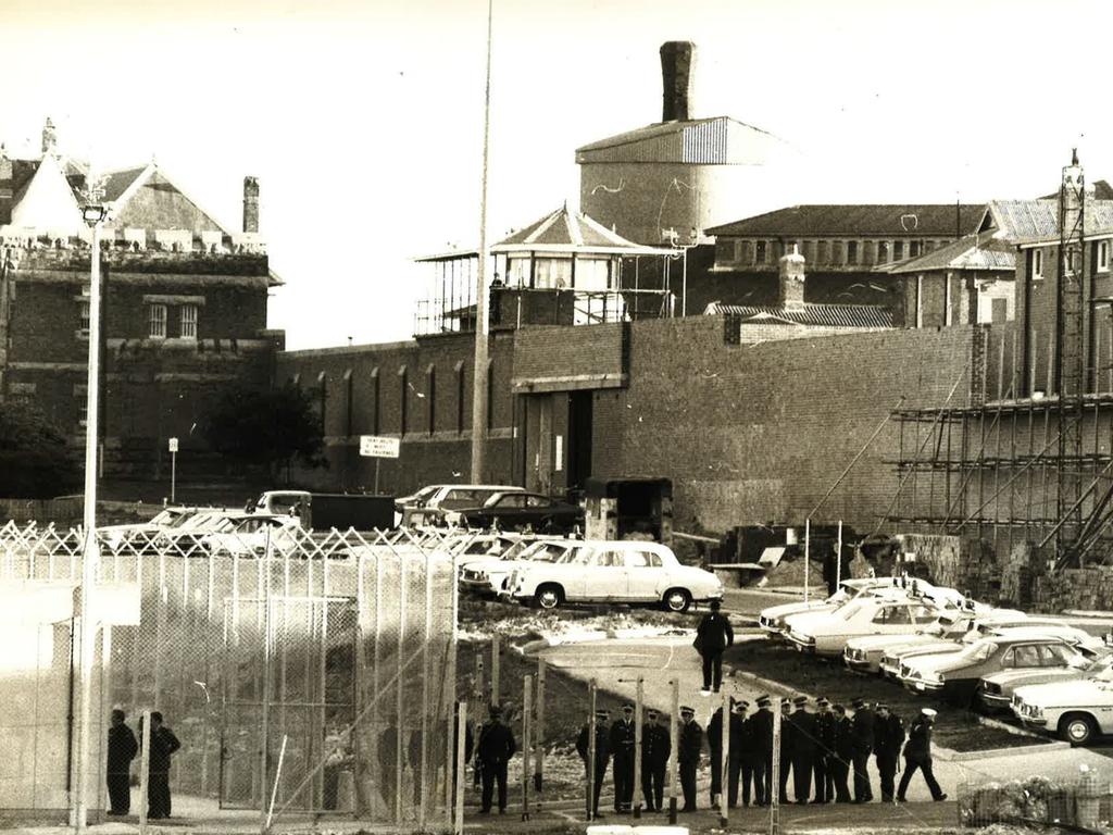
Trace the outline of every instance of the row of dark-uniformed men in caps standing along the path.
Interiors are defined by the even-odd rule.
[[[738,805],[741,788],[742,805],[767,806],[772,795],[774,715],[772,700],[760,696],[750,711],[747,701],[731,699],[728,717],[729,752],[727,803]],[[922,770],[932,797],[943,800],[946,795],[932,774],[930,735],[935,710],[925,708],[913,720],[905,744],[900,718],[885,704],[870,707],[863,699],[851,703],[853,710],[831,705],[820,698],[815,703],[806,696],[781,703],[779,798],[789,803],[788,780],[792,778],[792,802],[798,804],[869,803],[874,799],[869,779],[869,757],[876,760],[880,778],[881,802],[904,802],[912,775]],[[613,762],[614,811],[629,812],[633,803],[633,763],[636,756],[634,706],[624,705],[622,716],[608,726],[607,710],[595,713],[595,756],[592,815],[599,816],[599,795],[608,764]],[[664,773],[671,753],[670,730],[659,711],[648,709],[641,737],[641,790],[644,808],[662,812]],[[577,740],[577,752],[584,767],[590,758],[590,725]],[[695,812],[696,772],[703,749],[703,729],[696,721],[693,708],[680,708],[678,766],[683,806],[680,812]],[[722,775],[723,716],[720,707],[707,727],[711,752],[711,805],[719,805],[723,788]],[[899,787],[894,786],[900,748],[904,745],[905,773]],[[590,768],[589,768],[590,773]],[[850,779],[853,774],[853,794]],[[812,786],[815,790],[812,792]]]

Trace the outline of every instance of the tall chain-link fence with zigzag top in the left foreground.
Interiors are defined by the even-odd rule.
[[[214,813],[447,822],[456,583],[442,546],[266,525],[102,533],[96,596],[139,610],[97,609],[106,701],[162,713],[183,744],[176,796]],[[9,523],[0,579],[76,586],[81,550],[80,530]]]

